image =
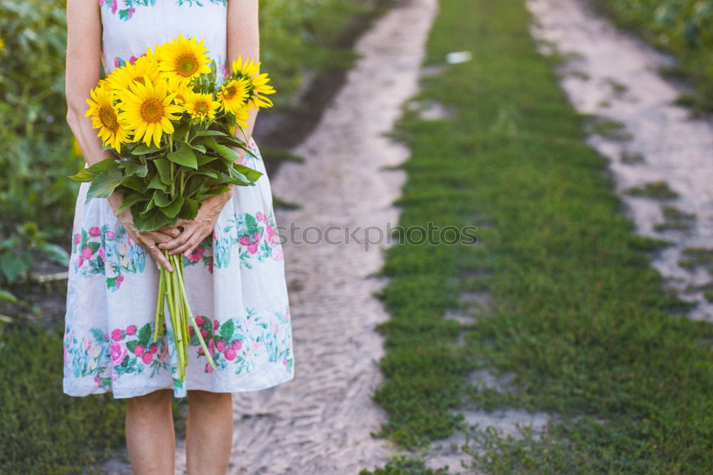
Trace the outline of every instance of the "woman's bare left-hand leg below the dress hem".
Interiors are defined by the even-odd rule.
[[[126,406],[126,449],[135,475],[173,475],[175,432],[171,390],[131,397]]]

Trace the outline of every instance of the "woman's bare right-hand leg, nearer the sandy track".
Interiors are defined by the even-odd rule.
[[[230,392],[188,391],[185,458],[189,475],[225,474],[232,449]]]

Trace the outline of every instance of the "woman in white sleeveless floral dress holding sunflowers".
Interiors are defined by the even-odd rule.
[[[240,55],[257,61],[258,0],[68,0],[67,121],[88,165],[109,153],[85,118],[86,99],[99,79],[125,67],[148,47],[183,35],[204,41],[210,58],[228,68]],[[112,392],[128,398],[126,442],[136,474],[173,474],[175,435],[171,395],[188,395],[188,473],[227,469],[232,447],[231,392],[292,380],[292,333],[282,246],[277,239],[270,182],[257,158],[240,160],[263,172],[255,187],[236,187],[205,199],[192,221],[137,231],[123,197],[76,202],[64,336],[64,392]],[[240,131],[237,132],[239,135]],[[246,156],[247,155],[247,156]],[[188,300],[217,364],[189,346],[185,381],[177,377],[173,343],[153,342],[158,266],[182,253]],[[156,265],[150,265],[153,259]],[[167,319],[168,321],[168,319]],[[150,338],[149,335],[152,335]]]

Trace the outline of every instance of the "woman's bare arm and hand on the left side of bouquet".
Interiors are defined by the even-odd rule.
[[[76,137],[88,165],[111,157],[111,152],[103,150],[101,139],[97,137],[96,130],[91,126],[91,118],[84,117],[88,108],[86,99],[89,97],[89,91],[95,88],[99,81],[100,64],[101,12],[99,11],[99,2],[96,0],[67,0],[67,123]],[[123,195],[114,192],[107,199],[116,212],[123,202]],[[168,259],[154,244],[169,241],[170,237],[167,234],[175,236],[178,234],[177,229],[165,229],[167,234],[160,231],[137,231],[128,209],[116,217],[136,244],[147,249],[153,259],[163,264],[169,271],[173,271]]]

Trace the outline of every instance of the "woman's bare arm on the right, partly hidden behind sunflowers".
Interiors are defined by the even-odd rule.
[[[229,67],[232,67],[232,62],[236,61],[238,56],[242,56],[243,60],[250,58],[255,63],[260,61],[258,3],[258,0],[228,0],[227,2],[227,59]],[[256,118],[257,109],[253,109],[250,111],[250,118],[248,118],[245,128],[246,143],[250,142]],[[241,140],[245,140],[240,129],[237,129],[235,135]],[[240,159],[236,161],[242,163],[245,150],[237,149],[236,152],[240,155]]]

